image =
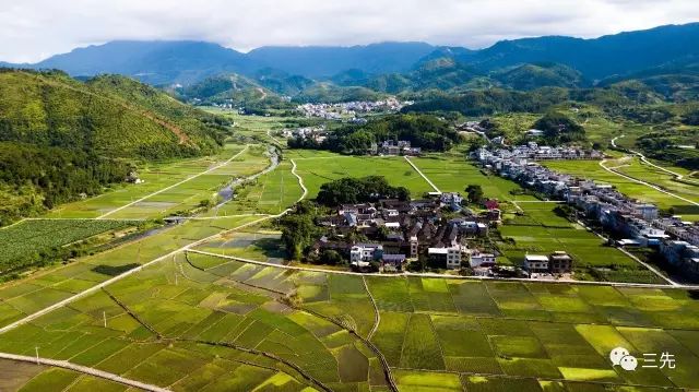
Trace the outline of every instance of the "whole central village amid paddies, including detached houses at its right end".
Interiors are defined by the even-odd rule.
[[[526,256],[520,266],[499,265],[498,251],[488,239],[502,223],[497,201],[485,201],[479,213],[465,204],[460,193],[433,192],[422,200],[340,205],[317,219],[325,234],[312,245],[310,256],[334,251],[362,272],[426,266],[490,277],[569,277],[572,258],[562,251]]]

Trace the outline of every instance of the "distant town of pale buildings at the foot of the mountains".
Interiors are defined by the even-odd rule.
[[[316,117],[327,120],[352,118],[355,122],[362,122],[362,120],[366,120],[357,118],[357,115],[371,112],[398,112],[405,106],[412,104],[412,102],[401,102],[395,98],[388,98],[376,102],[362,100],[340,104],[304,104],[299,105],[297,110],[308,118]]]

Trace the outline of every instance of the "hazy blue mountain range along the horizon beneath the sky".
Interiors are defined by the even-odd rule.
[[[117,73],[152,85],[178,85],[183,97],[239,97],[244,92],[244,97],[252,99],[280,95],[304,100],[315,99],[321,92],[344,99],[368,91],[585,87],[639,75],[696,76],[698,41],[699,23],[594,39],[545,36],[502,40],[481,50],[382,43],[271,46],[242,54],[203,41],[121,40],[74,49],[34,64],[5,66],[60,69],[78,78]],[[226,84],[232,88],[223,88]],[[212,85],[216,85],[213,91]],[[214,94],[192,95],[202,91]]]

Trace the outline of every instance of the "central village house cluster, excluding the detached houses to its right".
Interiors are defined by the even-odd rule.
[[[464,210],[458,218],[442,216],[445,209],[462,200],[458,193],[442,193],[425,200],[341,205],[334,214],[317,219],[325,235],[311,251],[337,251],[357,270],[378,265],[386,272],[402,271],[408,259],[418,258],[443,269],[495,265],[495,254],[470,249],[467,239],[487,236],[489,227],[500,222],[500,211]],[[353,234],[363,240],[350,240]]]

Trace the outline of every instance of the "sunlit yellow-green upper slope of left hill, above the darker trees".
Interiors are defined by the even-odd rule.
[[[216,118],[122,76],[86,83],[60,72],[0,72],[0,140],[109,157],[164,158],[215,151]]]

